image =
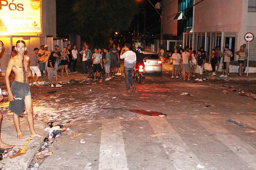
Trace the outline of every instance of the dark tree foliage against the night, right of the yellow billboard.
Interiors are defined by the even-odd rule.
[[[68,0],[61,0],[62,3],[63,1]],[[115,31],[128,30],[138,11],[134,0],[76,0],[71,7],[71,11],[66,11],[69,14],[59,16],[59,19],[69,17],[71,24],[66,25],[69,28],[60,28],[62,31],[58,33],[77,33],[92,45],[107,44]],[[63,26],[65,20],[59,23]]]

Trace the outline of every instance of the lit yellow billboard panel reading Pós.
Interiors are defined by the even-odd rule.
[[[41,35],[41,0],[0,0],[0,35]]]

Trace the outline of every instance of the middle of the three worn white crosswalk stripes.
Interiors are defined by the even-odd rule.
[[[193,169],[193,167],[196,168],[197,163],[199,163],[197,156],[190,151],[186,143],[183,142],[182,138],[176,133],[165,118],[150,117],[147,121],[149,121],[154,133],[165,133],[164,136],[159,137],[165,137],[171,140],[171,142],[163,141],[163,144],[165,145],[166,154],[170,155],[173,166],[176,169],[189,170]],[[172,149],[172,153],[169,153],[168,149],[170,148]],[[187,153],[190,153],[193,160],[187,156]]]

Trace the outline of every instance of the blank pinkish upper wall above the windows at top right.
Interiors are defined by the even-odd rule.
[[[201,0],[195,0],[195,3]],[[194,32],[239,32],[242,0],[204,0],[195,5]]]

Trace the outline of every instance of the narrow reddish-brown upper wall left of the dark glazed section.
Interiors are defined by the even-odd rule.
[[[178,0],[163,0],[163,35],[174,34],[177,35],[178,20],[174,19],[175,15],[169,17],[178,12]]]

